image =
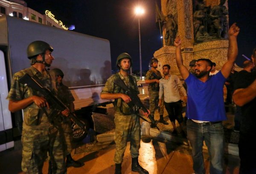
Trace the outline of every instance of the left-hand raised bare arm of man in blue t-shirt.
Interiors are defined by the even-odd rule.
[[[181,45],[181,40],[180,36],[177,36],[176,39],[174,40],[173,45],[175,46],[175,51],[176,51],[176,63],[177,67],[180,70],[180,74],[184,80],[188,78],[189,76],[189,70],[183,65],[183,59],[181,56],[181,50],[180,50],[180,45]]]

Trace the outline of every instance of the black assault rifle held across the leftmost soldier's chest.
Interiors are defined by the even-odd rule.
[[[58,112],[68,109],[68,107],[63,104],[60,99],[58,99],[49,89],[41,84],[37,76],[29,76],[29,74],[25,74],[22,78],[19,79],[19,82],[21,84],[26,84],[28,87],[31,87],[33,90],[36,90],[44,95],[44,98],[47,100],[50,107],[57,110]],[[52,121],[57,118],[53,114],[50,114],[49,117],[49,119]],[[76,115],[70,112],[68,117],[71,118],[81,129],[87,132],[86,126],[76,117]]]

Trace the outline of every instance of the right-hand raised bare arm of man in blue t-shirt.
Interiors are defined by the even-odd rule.
[[[236,61],[236,56],[238,54],[236,38],[239,34],[239,30],[240,28],[236,25],[236,23],[233,23],[233,25],[230,27],[230,30],[228,31],[229,47],[227,51],[227,62],[221,68],[221,73],[225,78],[228,78],[230,75],[232,67]]]

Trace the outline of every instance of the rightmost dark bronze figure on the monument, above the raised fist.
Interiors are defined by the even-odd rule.
[[[212,18],[212,31],[210,32],[213,35],[213,30],[215,31],[216,38],[225,37],[227,33],[227,17],[228,14],[226,6],[224,3],[226,0],[221,0],[218,6],[213,6],[210,12],[210,17]]]

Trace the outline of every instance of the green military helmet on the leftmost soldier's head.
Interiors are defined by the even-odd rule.
[[[49,50],[52,52],[53,48],[47,42],[44,42],[41,40],[34,41],[34,42],[30,43],[27,48],[27,56],[29,59],[31,59],[31,57],[36,56],[38,54],[42,54],[46,50]]]

